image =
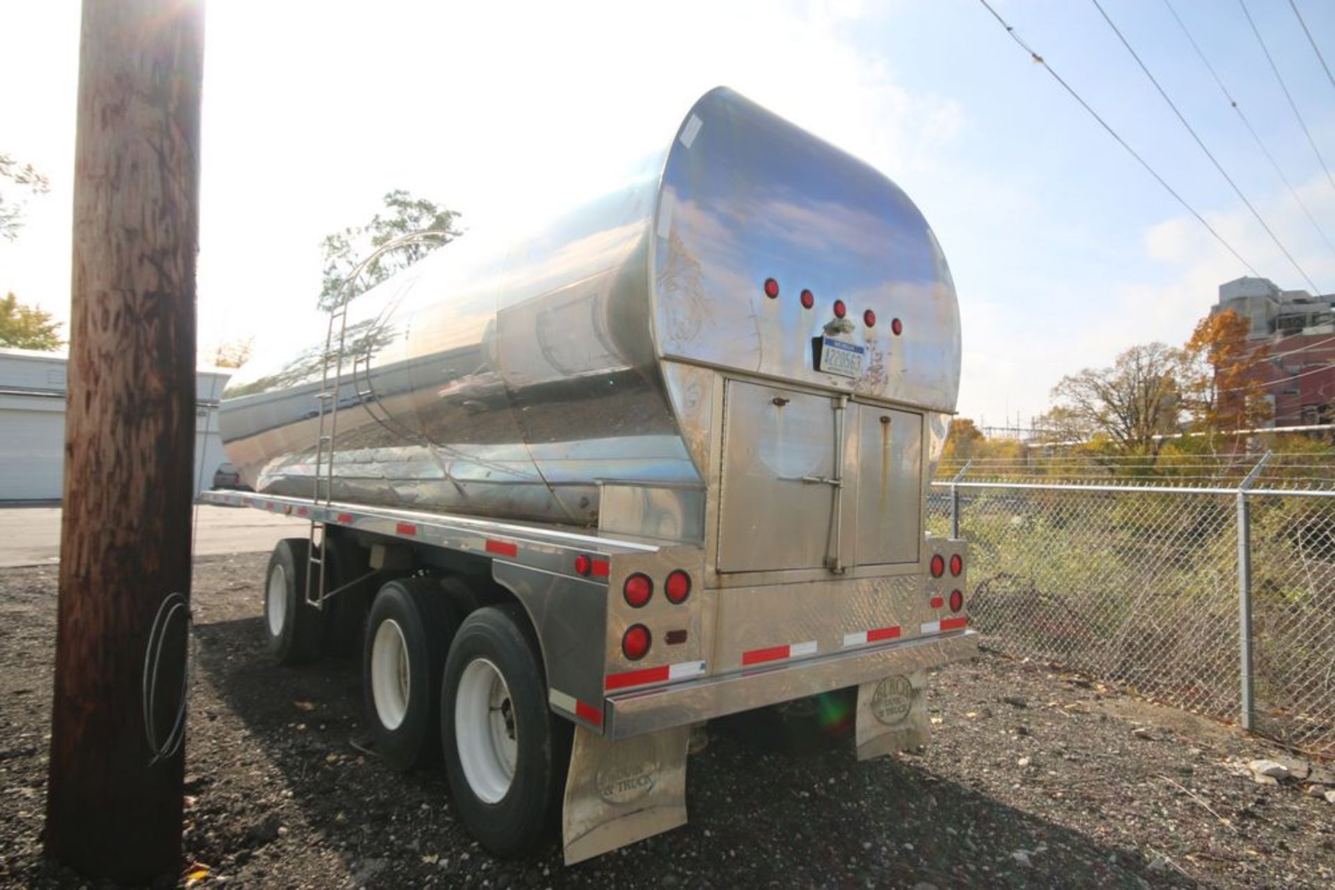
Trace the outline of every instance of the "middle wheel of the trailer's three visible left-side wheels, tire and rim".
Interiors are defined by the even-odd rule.
[[[434,578],[391,580],[371,604],[362,647],[362,699],[374,749],[395,770],[413,770],[441,757],[441,677],[455,626]],[[402,682],[394,683],[405,667],[406,694]]]

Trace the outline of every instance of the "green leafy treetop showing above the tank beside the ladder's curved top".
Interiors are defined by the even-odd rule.
[[[441,244],[447,244],[462,232],[455,228],[459,213],[425,197],[414,197],[403,189],[384,196],[384,211],[371,217],[366,226],[344,228],[328,235],[320,243],[324,256],[324,280],[319,306],[331,310],[339,299],[339,288],[362,259],[378,247],[411,232],[443,232],[445,238],[433,243],[406,244],[380,256],[367,266],[359,280],[350,288],[352,299],[375,287],[395,272],[413,266]]]

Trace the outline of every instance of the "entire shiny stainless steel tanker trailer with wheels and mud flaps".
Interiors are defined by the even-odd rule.
[[[379,754],[443,753],[502,855],[558,813],[567,862],[685,823],[716,718],[842,695],[860,758],[924,743],[926,671],[976,643],[964,544],[924,532],[960,323],[918,209],[714,89],[523,228],[228,390],[254,494],[212,499],[311,523],[270,560],[278,659],[360,646]]]

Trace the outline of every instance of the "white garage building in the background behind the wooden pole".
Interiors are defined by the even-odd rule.
[[[0,503],[60,500],[65,443],[63,352],[0,350]],[[218,400],[227,371],[200,368],[195,384],[196,494],[227,458],[218,438]]]

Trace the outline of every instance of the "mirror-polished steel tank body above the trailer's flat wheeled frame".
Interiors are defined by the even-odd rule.
[[[324,331],[308,340],[243,368],[222,406],[227,454],[260,492],[315,491]],[[657,519],[607,531],[670,540],[846,510],[858,552],[881,547],[870,512],[906,511],[872,562],[917,558],[960,375],[955,287],[917,207],[725,88],[614,189],[469,232],[356,298],[346,343],[320,498],[583,527],[615,499]],[[841,468],[868,479],[845,492],[856,508],[821,486]],[[828,546],[802,548],[765,567],[818,564]],[[720,562],[761,567],[745,543]]]

